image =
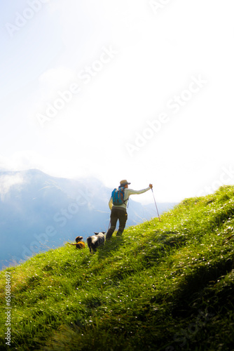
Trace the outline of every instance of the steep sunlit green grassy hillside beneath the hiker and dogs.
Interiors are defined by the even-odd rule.
[[[233,228],[225,186],[94,255],[65,244],[1,272],[1,350],[6,272],[12,350],[234,350]]]

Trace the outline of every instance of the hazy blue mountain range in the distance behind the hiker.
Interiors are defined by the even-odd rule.
[[[33,253],[86,239],[109,227],[111,190],[97,179],[55,178],[39,170],[0,171],[0,268]],[[162,213],[174,204],[158,204]],[[157,216],[155,204],[130,199],[127,225]]]

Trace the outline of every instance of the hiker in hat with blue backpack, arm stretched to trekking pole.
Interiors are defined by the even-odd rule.
[[[121,236],[123,234],[123,230],[128,219],[127,204],[130,195],[143,194],[153,187],[153,185],[150,184],[149,187],[146,187],[146,189],[137,191],[128,189],[128,185],[131,183],[128,183],[127,180],[121,180],[120,184],[121,185],[118,187],[118,189],[113,190],[111,199],[109,200],[109,208],[111,210],[111,227],[106,233],[106,240],[111,239],[111,236],[116,229],[117,220],[119,221],[119,227],[116,236]]]

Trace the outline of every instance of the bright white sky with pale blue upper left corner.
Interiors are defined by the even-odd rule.
[[[15,0],[0,11],[1,170],[153,183],[157,201],[234,184],[233,0]]]

